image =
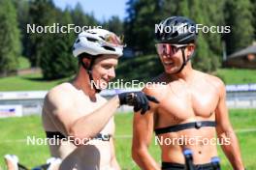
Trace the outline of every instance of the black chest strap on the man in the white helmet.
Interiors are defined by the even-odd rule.
[[[47,133],[47,138],[55,138],[55,139],[65,139],[67,138],[65,135],[63,135],[59,131],[46,131]],[[110,141],[112,135],[111,134],[103,134],[103,133],[98,133],[93,139],[98,139],[102,141]]]

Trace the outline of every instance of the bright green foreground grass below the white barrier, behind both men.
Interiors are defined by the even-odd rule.
[[[231,110],[230,117],[232,124],[237,131],[243,160],[247,169],[256,169],[256,131],[242,131],[242,129],[256,128],[256,110]],[[116,138],[115,150],[117,159],[122,169],[139,169],[131,158],[131,137],[132,134],[132,114],[117,114],[115,116]],[[41,126],[40,116],[27,116],[22,118],[0,119],[0,165],[4,168],[3,156],[6,154],[15,154],[20,162],[29,167],[43,164],[48,158],[47,146],[26,145],[26,136],[45,137]],[[128,137],[121,137],[128,135]],[[150,153],[157,161],[160,161],[159,149],[152,143]],[[221,151],[221,164],[224,170],[232,169],[227,159]]]

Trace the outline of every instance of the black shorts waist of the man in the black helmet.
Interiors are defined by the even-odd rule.
[[[162,162],[162,170],[184,170],[185,164],[180,163],[171,163],[171,162]],[[196,170],[213,170],[211,163],[205,164],[196,164]]]

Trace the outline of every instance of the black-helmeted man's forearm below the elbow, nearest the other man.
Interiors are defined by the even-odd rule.
[[[133,151],[133,159],[144,170],[160,170],[158,163],[152,156],[149,155],[148,151]]]

